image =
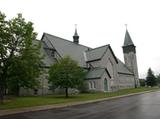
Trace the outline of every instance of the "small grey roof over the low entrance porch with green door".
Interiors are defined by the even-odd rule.
[[[104,72],[105,68],[93,68],[87,73],[86,79],[100,78],[104,74]]]

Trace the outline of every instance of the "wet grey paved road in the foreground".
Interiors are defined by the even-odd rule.
[[[0,119],[160,119],[160,92],[61,109],[2,116]]]

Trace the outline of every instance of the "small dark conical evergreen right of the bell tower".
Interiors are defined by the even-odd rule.
[[[151,70],[151,68],[148,69],[146,84],[147,86],[151,86],[151,87],[156,85],[156,77],[154,76],[154,73]]]

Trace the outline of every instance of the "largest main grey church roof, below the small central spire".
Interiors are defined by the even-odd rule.
[[[81,67],[86,67],[84,52],[91,48],[47,33],[44,33],[42,41],[44,41],[49,48],[56,49],[61,57],[69,55],[72,59],[76,60]]]

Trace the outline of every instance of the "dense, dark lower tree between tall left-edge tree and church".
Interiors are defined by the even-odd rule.
[[[24,49],[21,56],[14,57],[9,68],[8,88],[12,94],[19,96],[20,88],[38,87],[41,72],[40,46],[32,45]],[[20,69],[20,70],[15,70]]]

